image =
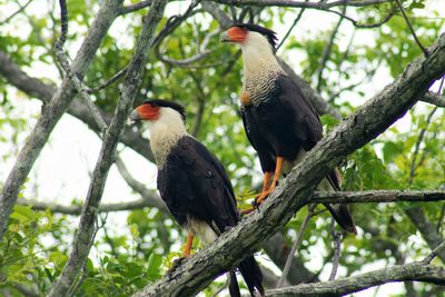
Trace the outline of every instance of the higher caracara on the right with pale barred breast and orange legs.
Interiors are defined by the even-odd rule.
[[[240,113],[264,172],[263,189],[255,201],[259,205],[274,191],[281,175],[286,176],[322,139],[323,126],[310,101],[279,65],[275,55],[277,36],[273,30],[254,23],[237,23],[219,39],[239,46],[243,52]],[[340,190],[338,170],[332,170],[318,189]],[[325,206],[343,229],[357,234],[346,205]]]

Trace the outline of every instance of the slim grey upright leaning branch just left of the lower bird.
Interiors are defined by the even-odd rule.
[[[139,89],[148,50],[155,40],[155,30],[162,18],[166,4],[167,0],[154,0],[148,14],[142,19],[142,29],[126,73],[115,116],[105,133],[102,148],[92,174],[80,217],[79,229],[72,242],[72,250],[61,275],[49,293],[50,297],[66,296],[76,284],[78,274],[87,261],[97,230],[97,214],[108,171],[113,162],[118,139],[122,133],[123,125],[130,113],[132,102]]]

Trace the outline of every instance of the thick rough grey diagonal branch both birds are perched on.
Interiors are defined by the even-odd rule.
[[[385,131],[406,113],[434,80],[443,76],[445,34],[429,47],[428,52],[428,57],[415,59],[393,83],[322,139],[259,207],[259,211],[254,211],[233,230],[136,296],[194,295],[253,254],[305,204],[313,202],[308,199],[310,192],[345,156]]]

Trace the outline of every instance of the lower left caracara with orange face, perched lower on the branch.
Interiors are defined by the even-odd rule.
[[[240,221],[227,172],[215,155],[186,130],[185,108],[151,99],[130,113],[130,120],[148,123],[158,176],[157,187],[170,214],[188,232],[182,257],[189,257],[194,237],[208,245]],[[263,274],[254,256],[240,261],[251,296],[264,296]],[[230,296],[240,296],[235,271],[229,271]]]

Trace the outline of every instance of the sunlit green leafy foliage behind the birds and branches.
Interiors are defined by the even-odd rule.
[[[0,1],[0,7],[6,7],[7,2]],[[49,4],[44,1],[34,2],[42,9],[27,9],[10,21],[0,23],[0,50],[8,53],[24,72],[32,71],[32,76],[43,82],[57,86],[62,75],[57,67],[52,47],[55,38],[59,34],[59,17],[51,1]],[[403,1],[413,27],[425,46],[436,39],[444,26],[441,11],[427,10],[427,2]],[[72,0],[68,1],[68,4],[70,29],[66,48],[69,56],[73,57],[99,3]],[[18,6],[13,8],[18,9]],[[263,11],[258,8],[258,11],[221,8],[237,20],[247,21],[251,14],[256,22],[270,28],[283,27],[286,30],[289,26],[287,20],[296,16],[294,9],[284,8]],[[171,8],[174,9],[176,7]],[[357,17],[359,23],[376,23],[393,10],[392,4],[365,7],[355,9],[355,14],[352,16]],[[353,8],[348,8],[346,12],[349,11],[353,11]],[[422,13],[417,18],[418,12]],[[254,17],[256,13],[260,17]],[[375,89],[380,89],[386,82],[395,79],[408,62],[421,53],[399,13],[386,23],[366,31],[356,29],[344,20],[338,32],[335,32],[326,66],[320,71],[322,57],[333,38],[333,28],[338,19],[337,16],[333,17],[326,28],[313,28],[314,16],[319,16],[314,13],[330,16],[327,12],[306,11],[284,43],[281,52],[297,72],[306,81],[310,81],[310,85],[345,117],[365,99],[369,99]],[[431,13],[429,17],[423,17],[427,13]],[[86,86],[95,88],[126,67],[131,58],[142,14],[144,11],[136,11],[121,16],[120,26],[110,29],[88,69]],[[0,12],[0,16],[2,19],[8,17],[4,12]],[[167,18],[162,21],[162,24],[166,23]],[[22,29],[17,30],[19,27]],[[240,55],[233,47],[218,42],[218,22],[199,9],[160,40],[146,66],[138,101],[162,98],[185,105],[188,130],[226,166],[244,207],[255,196],[261,174],[239,116],[238,95],[243,79]],[[214,36],[208,37],[209,32]],[[210,50],[209,53],[191,63],[178,63],[202,53],[200,47],[206,38],[209,40],[204,50]],[[304,58],[295,60],[295,57]],[[95,103],[108,115],[111,115],[116,107],[119,83],[118,80],[91,95]],[[374,88],[375,86],[377,87]],[[17,116],[20,108],[28,105],[27,101],[20,101],[23,96],[27,100],[31,99],[21,92],[18,95],[18,91],[0,77],[0,147],[6,148],[0,150],[0,157],[4,162],[14,158],[17,147],[23,142],[31,127],[29,119]],[[428,115],[432,115],[431,118]],[[332,116],[322,117],[322,121],[326,132],[338,123]],[[403,122],[395,125],[344,160],[340,165],[344,189],[443,188],[444,123],[443,109],[433,112],[431,107],[417,105]],[[3,177],[7,174],[7,169],[0,167],[0,175]],[[28,188],[39,186],[32,185],[32,181],[27,185]],[[36,197],[27,192],[30,197],[23,198],[44,199],[37,190]],[[27,195],[23,191],[22,196]],[[346,237],[343,241],[342,274],[350,275],[367,264],[386,266],[418,259],[425,255],[428,250],[427,245],[406,215],[407,209],[417,206],[354,206],[354,218],[359,227],[359,235]],[[436,225],[438,234],[443,236],[443,205],[428,204],[421,207],[426,218]],[[323,209],[323,206],[316,208],[315,211],[319,214],[309,222],[298,253],[307,268],[320,278],[328,273],[328,264],[333,256],[330,218]],[[306,210],[299,211],[283,230],[281,234],[289,245],[295,240],[306,215]],[[107,224],[102,221],[93,253],[78,279],[76,291],[72,293],[75,296],[129,296],[160,278],[180,255],[179,242],[185,236],[169,214],[145,208],[128,211],[126,216],[127,227],[120,232],[108,230],[107,224],[112,221],[103,218]],[[60,275],[69,255],[69,242],[73,236],[73,226],[77,225],[77,221],[71,219],[70,216],[51,214],[49,210],[34,211],[28,206],[16,206],[8,232],[0,244],[0,293],[26,295],[18,285],[24,285],[41,295],[49,291],[51,283]],[[318,260],[312,266],[314,258]],[[206,288],[202,296],[214,296],[224,287],[225,281],[219,279]],[[415,293],[426,296],[428,293],[434,294],[435,288],[418,285]]]

